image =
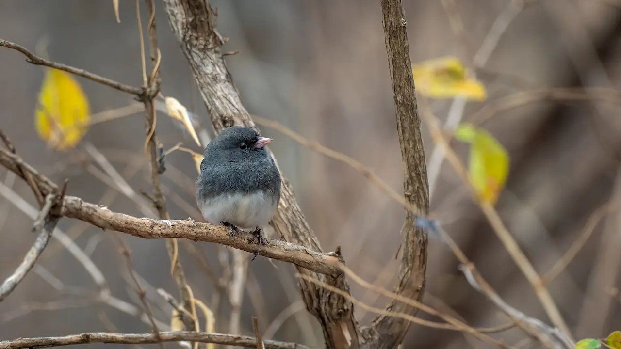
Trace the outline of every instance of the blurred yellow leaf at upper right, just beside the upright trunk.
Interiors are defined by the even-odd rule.
[[[412,65],[412,76],[417,91],[432,98],[452,98],[483,101],[487,97],[485,86],[469,75],[456,57],[442,57]]]

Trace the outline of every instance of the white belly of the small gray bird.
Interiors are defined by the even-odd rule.
[[[199,209],[211,224],[229,222],[239,229],[252,232],[255,227],[263,227],[270,222],[277,204],[264,193],[256,192],[213,197],[199,204]]]

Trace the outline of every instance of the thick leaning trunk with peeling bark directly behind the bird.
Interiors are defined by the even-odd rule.
[[[164,4],[168,21],[189,61],[215,131],[219,132],[233,125],[257,129],[242,104],[222,58],[220,46],[225,40],[215,29],[215,13],[209,2],[165,0]],[[291,185],[286,178],[282,179],[281,202],[271,225],[286,241],[317,252],[322,251],[317,237],[297,205]],[[298,270],[307,273],[306,270]],[[343,274],[336,277],[318,277],[349,292]],[[307,309],[322,326],[327,348],[358,348],[359,330],[353,317],[351,302],[306,280],[300,281],[300,288]]]

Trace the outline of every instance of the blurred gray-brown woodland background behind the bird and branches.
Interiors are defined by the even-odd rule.
[[[453,55],[473,68],[486,85],[488,99],[468,102],[465,121],[473,120],[487,104],[520,91],[614,89],[619,84],[619,1],[535,0],[524,4],[460,0],[453,10],[463,21],[465,30],[461,31],[455,23],[451,25],[450,19],[456,17],[450,8],[447,11],[446,3],[404,0],[410,55],[412,63]],[[249,112],[356,158],[402,192],[401,152],[379,1],[238,0],[212,4],[219,9],[220,34],[230,38],[223,50],[240,52],[226,60]],[[156,5],[162,93],[176,97],[212,132],[163,6],[160,1]],[[145,25],[148,14],[143,2],[141,6]],[[486,48],[489,60],[479,56],[473,63],[489,35],[498,37],[497,45]],[[43,45],[50,60],[133,86],[142,83],[134,1],[120,1],[120,23],[110,0],[2,1],[0,38],[32,51]],[[92,143],[135,191],[150,192],[143,155],[143,114],[93,125],[83,142],[68,152],[47,150],[34,129],[43,72],[42,67],[25,62],[20,53],[0,48],[2,130],[30,165],[57,183],[68,178],[69,194],[143,217],[134,202],[96,176],[93,166],[97,165],[84,150]],[[88,94],[93,113],[134,103],[128,94],[86,79],[78,81]],[[433,111],[442,122],[451,102],[433,101]],[[621,195],[617,183],[621,180],[621,122],[615,104],[619,99],[593,94],[558,101],[544,93],[541,98],[496,112],[483,123],[510,153],[509,180],[496,208],[538,273],[546,274],[574,242],[586,240],[568,266],[547,284],[576,338],[605,337],[621,330],[619,209],[605,206]],[[401,240],[403,209],[347,165],[314,153],[276,130],[261,127],[261,131],[274,138],[271,150],[324,250],[342,246],[353,271],[391,289],[399,270],[394,256]],[[427,125],[422,125],[422,131],[429,158],[434,144]],[[165,114],[158,117],[156,132],[165,148],[183,142],[202,152]],[[455,143],[454,147],[466,161],[466,146]],[[199,219],[191,156],[173,152],[166,163],[163,184],[171,217]],[[35,204],[29,188],[4,169],[0,180]],[[505,301],[550,323],[532,288],[448,164],[437,176],[431,209]],[[0,199],[0,224],[0,279],[4,279],[20,263],[35,234],[29,230],[32,219],[4,198]],[[66,218],[58,227],[101,271],[116,303],[97,301],[99,286],[92,274],[57,240],[51,240],[34,270],[0,303],[0,338],[150,332],[150,326],[136,315],[142,305],[115,235],[132,250],[132,264],[147,289],[154,317],[170,324],[171,308],[155,292],[155,288],[163,288],[178,297],[163,240],[102,232]],[[226,294],[219,294],[222,288],[217,286],[227,269],[223,266],[231,263],[227,254],[230,249],[224,247],[179,241],[179,258],[188,283],[194,296],[216,312],[220,333],[227,333],[230,314]],[[473,326],[507,322],[466,283],[448,248],[430,239],[428,255],[425,303],[458,314]],[[250,318],[256,315],[268,337],[320,348],[324,345],[321,330],[306,313],[293,274],[290,266],[266,258],[249,264],[242,334],[252,335]],[[224,274],[222,280],[226,277]],[[376,307],[388,302],[353,283],[351,294]],[[361,324],[370,324],[375,316],[363,309],[355,311]],[[422,313],[418,316],[427,319]],[[520,343],[522,348],[537,347],[525,342],[520,330],[493,336],[511,345]],[[468,346],[487,345],[458,332],[412,325],[403,348]],[[178,345],[167,343],[166,347]]]

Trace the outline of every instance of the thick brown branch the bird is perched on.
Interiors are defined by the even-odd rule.
[[[32,166],[24,163],[19,156],[0,149],[0,164],[23,179],[24,174],[18,170],[21,165],[25,172],[32,175],[34,184],[41,193],[44,195],[58,193],[56,184],[39,174]],[[243,232],[240,238],[233,241],[229,236],[229,230],[218,225],[194,222],[191,219],[160,221],[133,217],[112,212],[107,207],[84,202],[75,196],[64,197],[63,210],[60,214],[83,220],[101,229],[116,230],[139,238],[186,238],[194,241],[220,243],[250,253],[254,253],[257,248],[256,243],[249,243],[252,239],[251,233]],[[259,254],[274,260],[293,263],[301,268],[315,271],[315,273],[334,276],[342,274],[338,268],[337,253],[320,253],[281,240],[268,240],[267,245],[260,248]]]

